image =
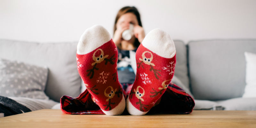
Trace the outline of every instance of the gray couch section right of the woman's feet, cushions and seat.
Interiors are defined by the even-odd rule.
[[[187,45],[176,41],[175,46],[174,75],[196,99],[194,109],[256,110],[256,98],[242,98],[244,52],[256,53],[256,40],[190,41]]]

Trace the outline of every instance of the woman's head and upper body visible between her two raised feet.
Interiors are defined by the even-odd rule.
[[[131,24],[133,25],[134,35],[130,40],[124,40],[122,33],[129,29]],[[117,72],[124,91],[135,80],[134,70],[136,70],[136,66],[132,67],[132,62],[136,61],[135,52],[144,37],[145,32],[137,8],[130,6],[121,8],[116,15],[113,41],[118,48]]]

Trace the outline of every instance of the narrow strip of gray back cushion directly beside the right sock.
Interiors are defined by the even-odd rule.
[[[186,45],[179,40],[174,40],[173,42],[176,48],[176,67],[174,75],[189,89]]]

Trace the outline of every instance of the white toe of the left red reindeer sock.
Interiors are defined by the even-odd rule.
[[[84,55],[92,52],[111,40],[108,31],[100,25],[94,25],[84,31],[77,44],[77,54]]]

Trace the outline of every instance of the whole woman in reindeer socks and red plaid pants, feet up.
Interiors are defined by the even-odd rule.
[[[122,33],[131,26],[134,34],[124,40]],[[131,115],[192,112],[194,100],[170,83],[174,72],[161,70],[176,62],[170,35],[153,29],[145,37],[135,7],[123,7],[118,12],[113,40],[102,26],[86,29],[77,45],[76,57],[77,63],[83,65],[78,72],[87,89],[75,99],[63,96],[63,113],[121,115],[125,108]]]

